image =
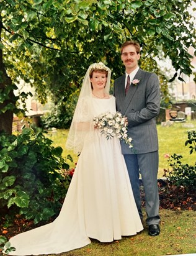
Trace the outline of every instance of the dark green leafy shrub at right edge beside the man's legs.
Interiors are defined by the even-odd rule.
[[[192,130],[187,132],[188,140],[185,141],[185,146],[190,145],[190,154],[196,152],[196,131]],[[185,191],[196,190],[196,162],[195,165],[189,165],[188,163],[182,163],[182,155],[171,155],[168,162],[172,170],[164,170],[165,176],[172,183],[172,185],[178,188],[183,187]]]

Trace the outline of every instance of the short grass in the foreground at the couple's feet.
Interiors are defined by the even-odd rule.
[[[86,247],[58,255],[161,256],[194,254],[196,252],[196,212],[161,210],[160,215],[162,219],[161,233],[156,237],[150,237],[145,226],[145,229],[137,235],[123,237],[121,240],[111,243],[100,243],[92,239],[91,244]]]

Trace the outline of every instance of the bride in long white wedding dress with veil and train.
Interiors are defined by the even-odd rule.
[[[143,229],[119,140],[106,139],[94,117],[115,112],[109,94],[111,71],[89,66],[84,77],[66,147],[81,152],[59,216],[50,224],[10,239],[9,255],[59,254],[91,243],[122,239]]]

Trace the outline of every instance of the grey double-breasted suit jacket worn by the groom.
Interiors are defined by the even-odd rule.
[[[114,81],[114,96],[117,111],[128,118],[128,135],[133,139],[133,149],[121,143],[122,153],[148,153],[158,150],[156,116],[160,109],[160,89],[158,76],[138,70],[137,85],[130,85],[125,95],[125,75]]]

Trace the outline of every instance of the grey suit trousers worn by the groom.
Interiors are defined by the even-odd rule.
[[[157,181],[159,165],[158,151],[141,154],[128,154],[124,155],[124,158],[140,217],[142,218],[139,180],[141,173],[141,179],[145,190],[147,214],[146,223],[148,225],[159,224],[159,192]]]

